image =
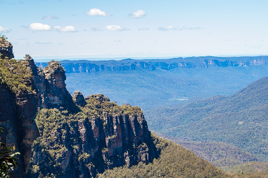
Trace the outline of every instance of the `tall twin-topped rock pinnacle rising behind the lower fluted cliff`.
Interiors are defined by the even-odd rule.
[[[72,97],[66,89],[65,70],[58,61],[50,61],[48,66],[40,69],[34,63],[31,56],[25,55],[29,67],[33,72],[34,86],[38,95],[38,107],[69,109],[75,111],[78,108],[72,101]]]

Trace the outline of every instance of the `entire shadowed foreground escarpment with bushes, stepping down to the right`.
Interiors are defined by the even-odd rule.
[[[102,94],[84,98],[77,91],[72,97],[57,61],[40,69],[26,55],[20,61],[5,59],[4,65],[0,124],[3,142],[21,152],[14,177],[25,177],[29,165],[27,177],[95,177],[105,169],[149,163],[159,156],[139,107],[119,106]],[[13,69],[21,85],[10,85],[12,76],[3,77]]]

